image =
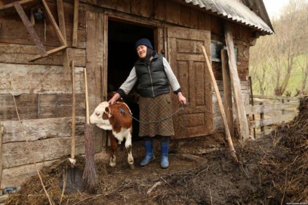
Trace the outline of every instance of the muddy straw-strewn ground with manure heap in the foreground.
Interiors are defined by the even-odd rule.
[[[251,178],[245,178],[227,149],[191,155],[172,151],[170,167],[160,159],[146,167],[128,168],[125,160],[111,169],[98,162],[96,195],[65,195],[63,204],[285,204],[308,203],[308,98],[299,115],[271,135],[237,145],[236,151]],[[218,144],[220,141],[215,139]],[[196,153],[201,149],[194,144]],[[202,147],[202,146],[201,146]],[[215,147],[215,146],[214,146]],[[216,147],[215,147],[216,148]],[[182,148],[181,148],[182,149]],[[175,150],[181,150],[175,149]],[[187,148],[188,149],[188,148]],[[185,149],[184,149],[185,150]],[[183,150],[182,150],[183,151]],[[79,157],[78,167],[84,159]],[[136,165],[141,158],[135,159]],[[44,183],[55,204],[61,200],[59,178],[69,166],[67,158],[42,170]],[[9,204],[48,204],[37,177],[11,196]]]

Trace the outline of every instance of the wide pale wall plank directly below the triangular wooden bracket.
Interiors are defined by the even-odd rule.
[[[71,80],[63,78],[60,66],[0,64],[0,94],[71,93]],[[84,93],[83,68],[75,67],[76,93]],[[27,80],[25,80],[27,79]]]

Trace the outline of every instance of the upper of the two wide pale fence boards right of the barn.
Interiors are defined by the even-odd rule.
[[[259,114],[259,113],[268,113],[273,111],[278,111],[282,109],[288,108],[296,108],[298,104],[296,103],[276,103],[276,104],[266,104],[266,105],[259,105],[259,106],[249,106],[245,107],[246,114]]]

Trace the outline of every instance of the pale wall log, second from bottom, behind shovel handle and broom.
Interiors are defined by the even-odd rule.
[[[27,137],[27,136],[26,136]],[[85,153],[84,136],[75,137],[75,153]],[[102,137],[95,137],[95,152],[101,151]],[[33,152],[35,162],[57,159],[70,154],[71,146],[70,137],[47,138],[42,140],[29,141],[30,149]],[[3,146],[4,168],[10,168],[20,165],[32,163],[29,158],[28,149],[25,147],[25,142],[11,142]]]

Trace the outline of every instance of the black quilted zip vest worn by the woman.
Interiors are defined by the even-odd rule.
[[[155,97],[169,92],[163,55],[156,54],[149,66],[138,59],[134,65],[138,77],[137,92],[142,97]]]

